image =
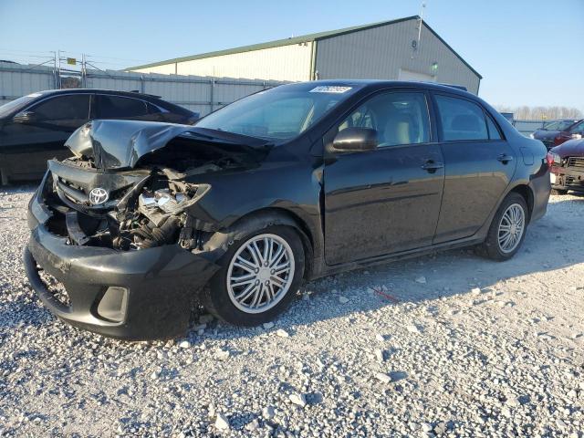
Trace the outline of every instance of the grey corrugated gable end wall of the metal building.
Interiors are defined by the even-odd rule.
[[[412,40],[417,39],[418,21],[412,19],[318,40],[318,78],[398,79],[401,68],[478,93],[479,78],[473,70],[426,26],[414,52]],[[433,63],[438,64],[436,72]]]

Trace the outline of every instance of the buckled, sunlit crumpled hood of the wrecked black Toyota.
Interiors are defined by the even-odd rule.
[[[78,157],[93,158],[99,169],[134,167],[141,157],[163,148],[190,125],[139,120],[92,120],[73,132],[67,146]]]

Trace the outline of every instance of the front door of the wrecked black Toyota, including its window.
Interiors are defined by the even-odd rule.
[[[378,131],[375,151],[337,152],[325,164],[325,257],[336,265],[431,245],[443,190],[443,156],[431,142],[423,92],[383,92],[338,130]]]

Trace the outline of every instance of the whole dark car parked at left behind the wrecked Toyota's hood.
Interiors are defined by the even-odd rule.
[[[65,141],[91,119],[193,123],[198,115],[134,92],[55,89],[29,94],[0,107],[1,183],[40,179],[47,160],[66,158]]]

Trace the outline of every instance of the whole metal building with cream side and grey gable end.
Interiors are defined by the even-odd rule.
[[[462,85],[475,94],[482,78],[420,16],[177,57],[127,70],[278,81],[426,80]]]

